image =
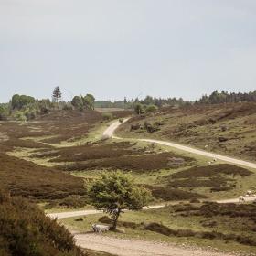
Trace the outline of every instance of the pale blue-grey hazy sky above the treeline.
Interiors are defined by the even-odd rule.
[[[0,101],[55,85],[66,100],[254,91],[256,1],[0,0]]]

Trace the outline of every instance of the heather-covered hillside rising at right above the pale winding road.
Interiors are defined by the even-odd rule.
[[[190,144],[256,161],[256,103],[162,108],[124,123],[119,135]]]

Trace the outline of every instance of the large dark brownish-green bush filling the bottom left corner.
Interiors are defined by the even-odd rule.
[[[84,255],[69,230],[20,197],[0,191],[1,255]],[[4,252],[3,252],[4,251]]]

